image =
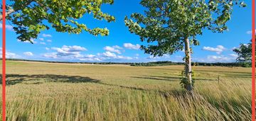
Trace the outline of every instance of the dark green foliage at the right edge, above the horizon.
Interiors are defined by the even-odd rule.
[[[238,54],[238,62],[252,62],[252,40],[248,44],[240,44],[238,48],[233,50]],[[245,65],[245,67],[248,65]]]

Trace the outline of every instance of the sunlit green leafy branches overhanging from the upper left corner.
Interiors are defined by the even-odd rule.
[[[103,13],[102,4],[113,4],[113,0],[11,0],[7,11],[7,20],[11,21],[18,40],[30,41],[37,38],[41,30],[50,26],[61,33],[82,33],[87,31],[92,35],[109,35],[107,28],[88,28],[78,19],[90,14],[97,20],[112,22],[114,16]],[[8,13],[8,12],[7,12]]]

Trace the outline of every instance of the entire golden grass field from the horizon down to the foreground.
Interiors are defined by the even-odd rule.
[[[191,96],[183,66],[6,65],[7,120],[250,120],[251,68],[193,67]],[[218,81],[220,76],[220,81]]]

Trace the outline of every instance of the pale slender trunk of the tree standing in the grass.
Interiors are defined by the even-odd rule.
[[[192,91],[192,69],[191,69],[191,49],[189,47],[189,40],[185,38],[185,76],[187,83],[185,83],[185,88],[187,91]]]

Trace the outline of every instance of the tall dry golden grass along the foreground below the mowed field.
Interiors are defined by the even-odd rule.
[[[227,84],[228,83],[228,84]],[[214,90],[214,91],[213,91]],[[9,99],[7,120],[250,120],[250,91],[225,81],[185,91],[113,91],[102,96]]]

